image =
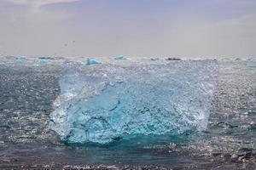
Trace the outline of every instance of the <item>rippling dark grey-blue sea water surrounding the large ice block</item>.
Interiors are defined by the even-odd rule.
[[[49,129],[63,62],[0,59],[0,169],[256,168],[255,59],[218,60],[218,87],[207,130],[103,145],[65,144]]]

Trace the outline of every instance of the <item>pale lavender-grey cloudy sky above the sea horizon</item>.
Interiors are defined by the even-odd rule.
[[[256,1],[0,1],[0,56],[119,54],[256,56]]]

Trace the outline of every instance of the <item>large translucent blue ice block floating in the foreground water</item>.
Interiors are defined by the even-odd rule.
[[[68,143],[126,135],[177,135],[207,127],[216,60],[161,64],[67,64],[50,127]]]

